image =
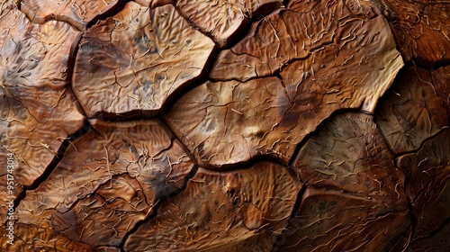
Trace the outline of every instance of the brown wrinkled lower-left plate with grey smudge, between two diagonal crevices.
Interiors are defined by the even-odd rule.
[[[193,163],[158,121],[92,123],[16,214],[85,244],[119,246],[157,202],[183,188]]]

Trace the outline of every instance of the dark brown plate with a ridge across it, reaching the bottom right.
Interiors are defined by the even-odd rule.
[[[276,250],[392,248],[410,226],[404,175],[392,160],[373,116],[343,113],[324,122],[293,163],[306,190]]]

